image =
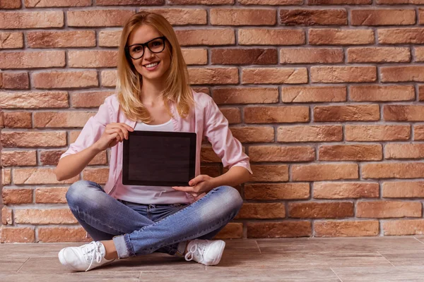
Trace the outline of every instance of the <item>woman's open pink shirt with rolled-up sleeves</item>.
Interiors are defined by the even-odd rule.
[[[218,106],[213,102],[213,99],[208,94],[194,92],[194,109],[190,112],[187,118],[181,118],[177,113],[175,105],[170,103],[170,109],[174,118],[172,124],[175,131],[194,132],[197,134],[196,140],[196,176],[200,174],[200,154],[201,142],[206,136],[211,142],[213,151],[222,159],[223,165],[228,168],[232,166],[242,166],[249,173],[252,173],[249,164],[249,157],[242,151],[242,145],[239,140],[232,136],[228,128],[228,121],[223,116]],[[75,142],[69,145],[69,149],[61,155],[63,158],[69,154],[76,154],[81,150],[93,145],[105,130],[105,126],[109,123],[126,123],[132,128],[136,125],[136,121],[131,121],[126,118],[124,112],[119,107],[117,95],[113,94],[105,99],[105,102],[100,105],[99,111],[95,116],[88,119],[84,125],[81,134]],[[109,178],[105,185],[105,192],[113,197],[115,184],[122,170],[122,142],[111,148],[110,151],[110,170]],[[199,196],[194,199],[192,195],[187,193],[192,202],[199,199]]]

